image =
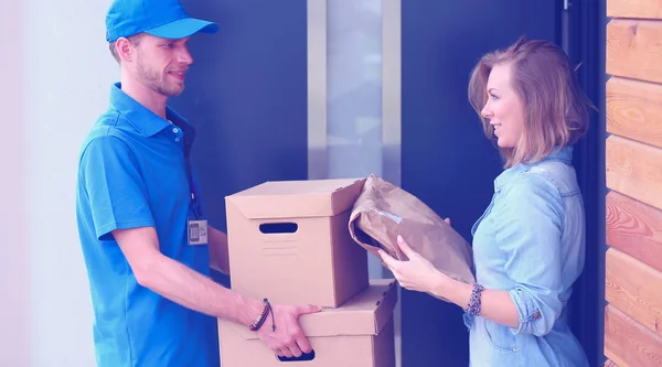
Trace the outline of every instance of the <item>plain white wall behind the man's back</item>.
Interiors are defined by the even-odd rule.
[[[95,365],[75,180],[81,142],[118,77],[105,42],[109,3],[0,6],[0,366]]]

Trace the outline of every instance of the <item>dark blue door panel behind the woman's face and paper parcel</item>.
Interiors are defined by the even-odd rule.
[[[558,0],[402,1],[402,184],[471,240],[499,154],[467,100],[478,58],[519,36],[560,42]],[[403,291],[403,367],[468,366],[461,310]]]

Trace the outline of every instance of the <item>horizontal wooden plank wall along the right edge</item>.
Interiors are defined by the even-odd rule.
[[[662,0],[607,17],[605,366],[662,366]]]

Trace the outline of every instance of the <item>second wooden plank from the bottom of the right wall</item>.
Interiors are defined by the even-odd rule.
[[[605,269],[607,302],[662,337],[662,272],[615,248]]]

